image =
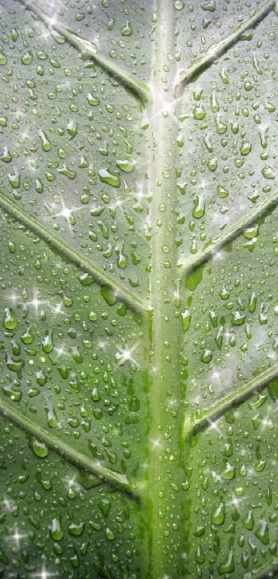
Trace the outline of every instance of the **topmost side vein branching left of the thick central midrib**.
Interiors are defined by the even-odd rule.
[[[92,42],[81,38],[75,30],[70,30],[66,26],[56,19],[50,17],[50,15],[45,12],[42,8],[37,6],[32,0],[19,0],[23,6],[26,6],[29,10],[32,10],[34,14],[39,16],[43,22],[50,29],[57,30],[59,34],[61,34],[66,41],[72,46],[75,46],[77,50],[81,53],[83,57],[90,58],[95,61],[96,64],[101,66],[104,70],[107,70],[113,77],[115,77],[121,84],[126,86],[132,93],[135,93],[137,97],[142,99],[143,101],[148,102],[150,99],[150,89],[146,84],[140,82],[139,80],[135,80],[130,75],[128,75],[125,70],[122,70],[117,66],[117,64],[110,61],[110,59],[106,58],[105,56],[99,54],[97,52],[97,47]]]

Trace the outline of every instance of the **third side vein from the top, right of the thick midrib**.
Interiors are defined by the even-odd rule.
[[[186,439],[190,439],[197,435],[201,430],[208,428],[210,424],[219,419],[221,416],[227,412],[230,408],[234,406],[239,406],[246,399],[250,398],[255,392],[266,388],[268,384],[277,379],[278,377],[278,364],[264,370],[258,376],[246,382],[239,390],[232,392],[225,398],[219,400],[213,406],[210,406],[208,410],[202,410],[198,414],[191,415],[185,418],[183,423],[183,436]]]

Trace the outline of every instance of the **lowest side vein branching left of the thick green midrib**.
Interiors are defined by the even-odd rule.
[[[34,424],[32,420],[22,415],[21,412],[12,408],[9,404],[6,404],[3,400],[0,400],[0,413],[25,430],[29,435],[44,442],[48,448],[54,450],[54,453],[58,453],[66,458],[68,462],[75,464],[84,471],[88,471],[88,473],[91,473],[92,475],[96,475],[100,480],[106,481],[112,486],[116,486],[121,491],[126,491],[126,493],[135,497],[139,496],[137,489],[128,482],[126,475],[110,471],[109,468],[102,466],[102,464],[97,460],[92,460],[89,457],[86,457],[86,455],[79,453],[78,450],[75,450],[75,448],[72,448],[69,444],[63,442],[59,437],[54,436],[52,433],[48,433],[47,430],[41,428],[38,424]]]

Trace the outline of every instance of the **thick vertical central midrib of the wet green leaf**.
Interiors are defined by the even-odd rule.
[[[168,59],[174,44],[174,10],[160,0],[155,32],[152,104],[149,106],[151,274],[149,294],[150,432],[145,523],[151,579],[181,577],[184,549],[184,480],[181,462],[181,312],[177,297],[177,118],[172,113]],[[171,68],[169,73],[167,67]],[[167,90],[168,89],[168,90]]]

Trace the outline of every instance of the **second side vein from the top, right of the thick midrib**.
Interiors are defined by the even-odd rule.
[[[232,240],[236,239],[241,235],[246,229],[255,223],[257,220],[261,219],[274,207],[276,207],[278,203],[278,191],[275,191],[271,197],[265,199],[261,202],[255,209],[252,209],[241,217],[234,225],[228,227],[226,231],[217,237],[215,240],[209,242],[209,244],[199,253],[195,254],[194,256],[188,257],[183,264],[181,265],[181,274],[190,274],[192,271],[206,263],[208,260],[213,258],[218,251],[223,249],[228,243]]]

